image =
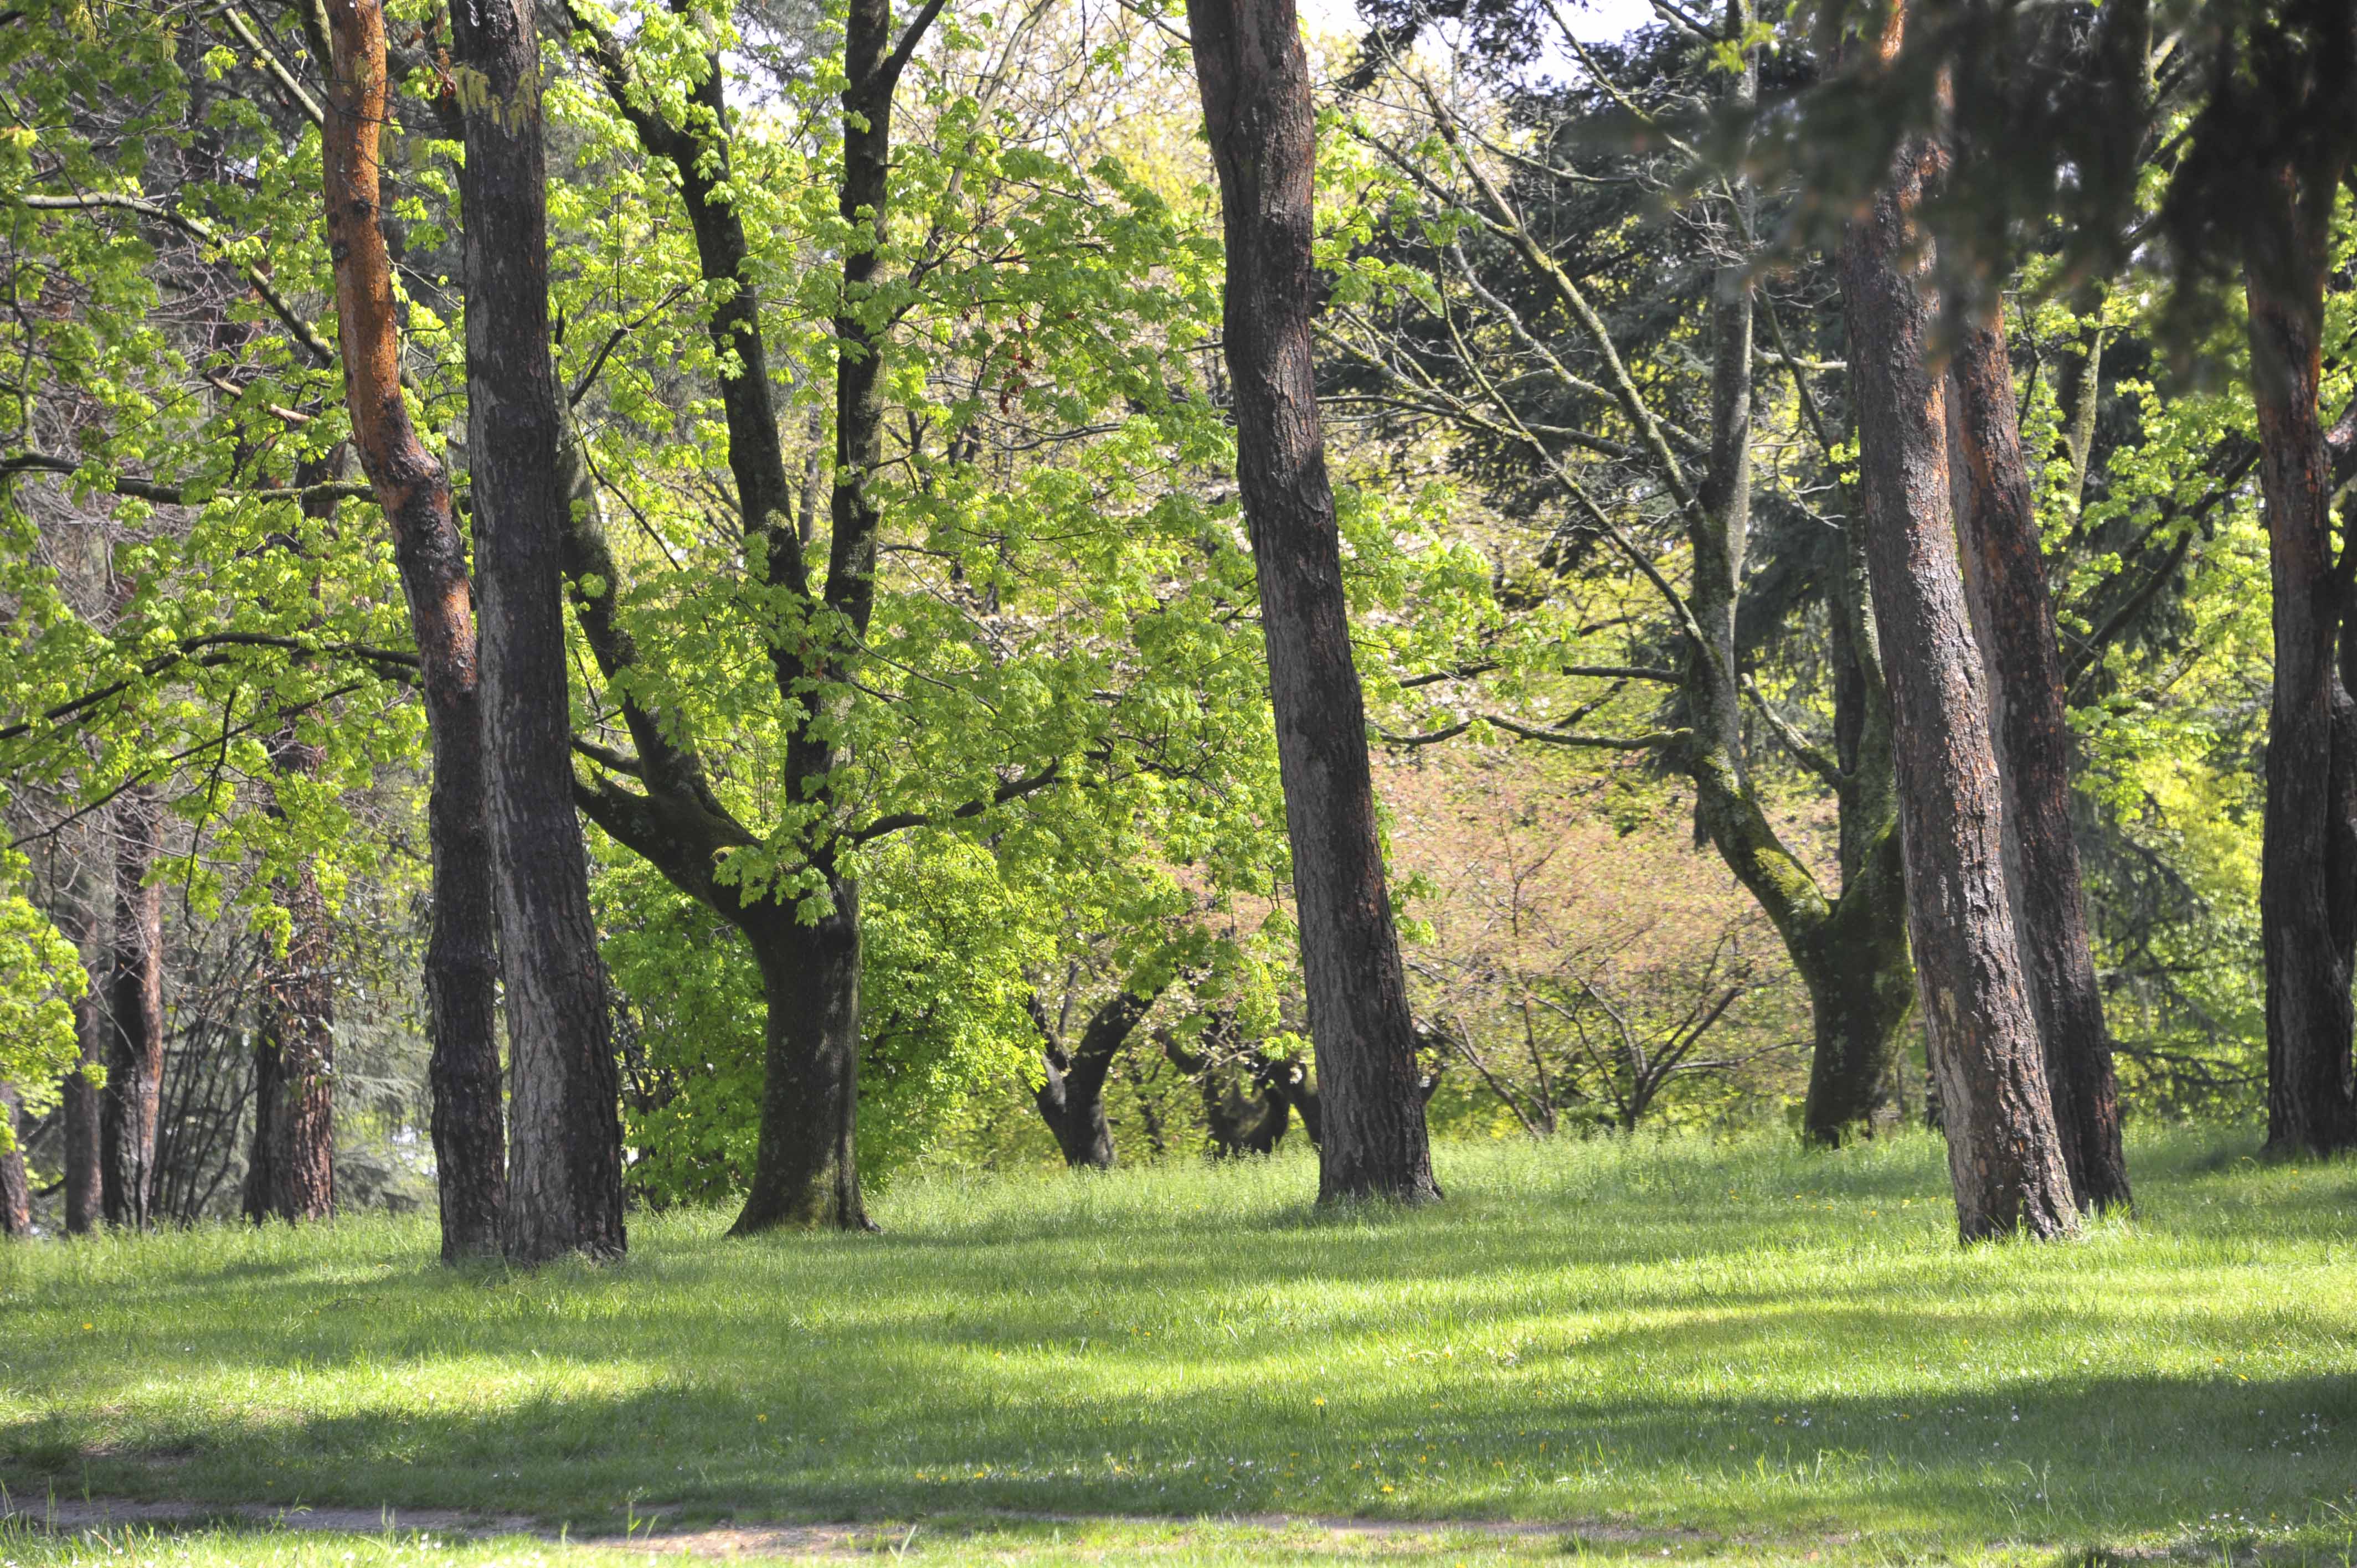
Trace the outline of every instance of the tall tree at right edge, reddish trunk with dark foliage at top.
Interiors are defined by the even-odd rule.
[[[2239,257],[2275,587],[2267,835],[2267,1144],[2357,1148],[2357,703],[2350,573],[2333,556],[2333,450],[2317,403],[2333,207],[2357,158],[2357,14],[2338,0],[2223,12],[2211,99],[2164,217],[2190,259]]]

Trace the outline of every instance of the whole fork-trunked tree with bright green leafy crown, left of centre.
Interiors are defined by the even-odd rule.
[[[1089,146],[1065,113],[1089,99],[1035,111],[1051,137],[990,106],[1044,14],[1011,12],[981,71],[962,33],[919,59],[931,12],[893,35],[856,14],[844,78],[775,83],[806,108],[790,130],[731,106],[752,61],[709,35],[625,47],[575,14],[589,92],[566,113],[615,189],[658,196],[608,217],[580,193],[599,264],[561,278],[589,344],[568,377],[580,802],[754,957],[740,1233],[863,1226],[863,1056],[981,1012],[867,995],[900,969],[870,960],[879,924],[912,910],[865,910],[865,877],[988,842],[976,896],[1018,891],[1032,964],[1039,865],[1080,879],[1150,823],[1167,858],[1216,861],[1263,799],[1244,554],[1193,486],[1219,453],[1183,361],[1211,248],[1117,160],[1042,151]],[[910,71],[929,118],[879,144]]]

